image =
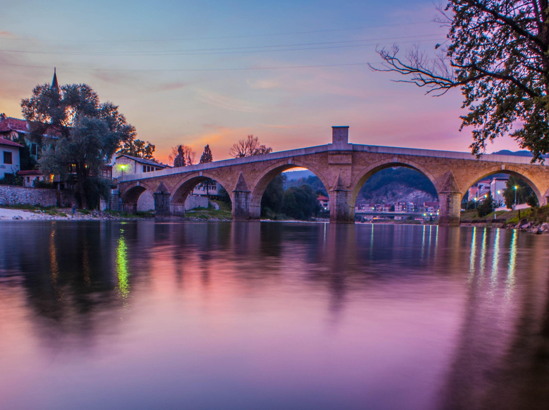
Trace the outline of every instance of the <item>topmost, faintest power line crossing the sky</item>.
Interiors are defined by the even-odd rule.
[[[186,37],[186,38],[134,39],[134,40],[48,40],[48,39],[40,39],[40,42],[47,42],[47,43],[145,43],[145,42],[176,42],[176,41],[218,40],[218,39],[228,39],[228,38],[289,36],[289,35],[296,35],[296,34],[329,33],[329,32],[339,32],[339,31],[379,29],[381,27],[410,26],[410,25],[417,25],[417,24],[427,24],[427,23],[432,23],[432,22],[433,22],[433,20],[427,20],[427,21],[416,21],[416,22],[411,22],[411,23],[397,23],[397,24],[383,24],[383,25],[376,25],[376,26],[351,27],[351,28],[347,28],[347,29],[293,31],[293,32],[284,32],[284,33],[260,33],[260,34],[247,34],[247,35],[236,35],[236,36],[219,36],[219,37]],[[32,38],[3,38],[3,40],[9,40],[9,41],[37,41],[36,39],[32,39]]]

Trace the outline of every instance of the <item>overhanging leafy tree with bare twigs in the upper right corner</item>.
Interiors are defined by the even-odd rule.
[[[410,76],[403,82],[442,95],[460,88],[463,127],[473,127],[472,152],[509,135],[543,162],[549,152],[549,7],[547,0],[450,0],[439,7],[449,26],[447,47],[429,56],[418,47],[380,49],[383,68]],[[514,129],[514,130],[513,130]]]

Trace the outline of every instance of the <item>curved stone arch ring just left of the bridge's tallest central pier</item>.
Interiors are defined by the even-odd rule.
[[[320,170],[305,161],[301,161],[295,158],[290,158],[290,160],[288,160],[287,158],[283,161],[271,164],[270,166],[262,170],[262,172],[260,172],[259,175],[257,175],[253,182],[250,184],[251,218],[259,219],[261,217],[261,198],[263,197],[263,193],[265,192],[267,185],[270,184],[271,181],[275,179],[278,174],[292,168],[306,168],[310,170],[313,174],[315,174],[315,176],[317,176],[318,179],[320,179],[320,181],[324,185],[324,188],[326,188],[329,196],[330,185],[328,185],[328,180],[320,172]]]

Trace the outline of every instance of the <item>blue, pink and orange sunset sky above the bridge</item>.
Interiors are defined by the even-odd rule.
[[[427,0],[0,0],[0,112],[22,118],[37,84],[86,83],[168,162],[190,145],[214,160],[248,134],[273,151],[349,142],[469,151],[462,95],[425,95],[374,72],[376,48],[432,52],[447,29]],[[488,152],[518,150],[511,138]]]

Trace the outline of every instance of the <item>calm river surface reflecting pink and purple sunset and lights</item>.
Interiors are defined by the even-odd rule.
[[[549,402],[545,236],[150,221],[2,232],[2,409]]]

